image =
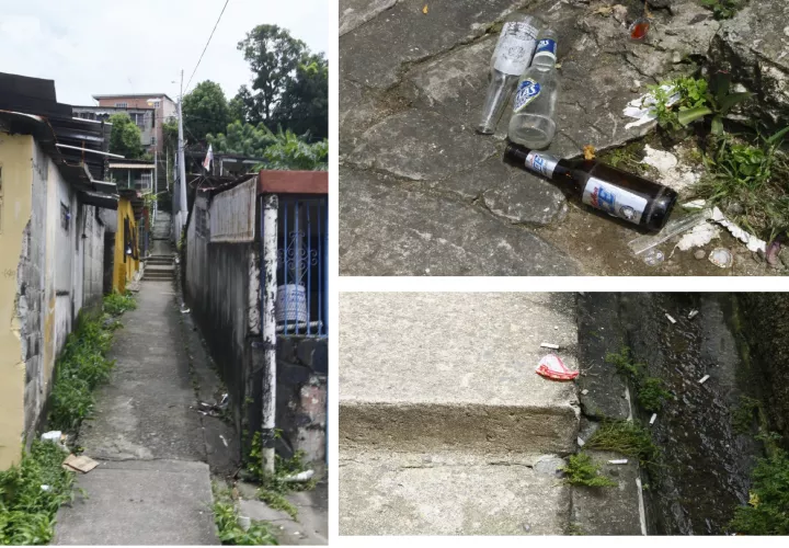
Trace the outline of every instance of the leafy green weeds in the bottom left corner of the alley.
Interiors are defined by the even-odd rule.
[[[49,544],[58,507],[73,500],[65,458],[58,445],[34,442],[20,464],[0,472],[0,545]]]

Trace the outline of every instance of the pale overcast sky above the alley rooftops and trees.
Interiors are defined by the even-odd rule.
[[[219,82],[231,99],[251,72],[236,46],[276,24],[313,52],[329,47],[329,0],[229,0],[192,80]],[[61,103],[93,94],[184,88],[225,0],[0,0],[0,72],[55,80]],[[174,82],[174,83],[173,83]]]

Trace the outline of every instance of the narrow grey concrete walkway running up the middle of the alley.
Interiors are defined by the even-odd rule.
[[[78,478],[89,498],[60,509],[55,544],[219,544],[180,316],[171,282],[141,283],[115,334],[112,380],[80,432],[100,466]]]

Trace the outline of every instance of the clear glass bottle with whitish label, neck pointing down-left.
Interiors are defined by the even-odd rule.
[[[518,77],[528,67],[537,47],[537,34],[542,22],[534,15],[511,13],[504,20],[493,57],[488,95],[482,117],[477,126],[481,134],[492,134],[517,84]]]

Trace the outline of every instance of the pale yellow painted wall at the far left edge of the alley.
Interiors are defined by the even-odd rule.
[[[31,218],[33,137],[0,133],[0,470],[21,457],[24,362],[16,318],[16,269]]]

